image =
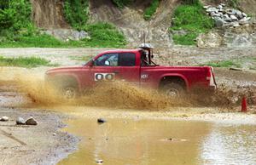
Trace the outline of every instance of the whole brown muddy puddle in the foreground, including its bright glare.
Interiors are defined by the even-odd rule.
[[[256,127],[170,120],[96,119],[69,121],[82,138],[79,151],[60,165],[255,164]]]

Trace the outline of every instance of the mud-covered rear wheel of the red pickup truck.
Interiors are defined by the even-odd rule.
[[[182,98],[185,94],[183,86],[178,83],[166,83],[161,91],[171,98]]]

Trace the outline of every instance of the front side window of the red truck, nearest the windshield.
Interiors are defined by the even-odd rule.
[[[119,60],[118,54],[103,54],[97,60],[95,60],[94,65],[101,66],[117,66]]]

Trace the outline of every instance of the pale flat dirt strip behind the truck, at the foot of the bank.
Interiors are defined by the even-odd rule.
[[[134,47],[137,48],[137,47]],[[60,65],[82,64],[84,61],[72,60],[72,57],[95,56],[113,48],[0,48],[0,55],[40,56]],[[155,48],[154,60],[160,65],[203,65],[207,62],[221,60],[247,60],[241,64],[244,69],[255,67],[256,48],[196,48],[175,46],[172,48]],[[256,69],[256,68],[255,68]]]

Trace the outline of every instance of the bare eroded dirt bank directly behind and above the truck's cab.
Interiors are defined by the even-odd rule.
[[[92,21],[108,21],[118,26],[131,43],[137,47],[143,43],[143,31],[146,31],[146,42],[154,46],[171,46],[169,27],[172,23],[172,12],[179,0],[162,0],[152,20],[143,19],[143,10],[150,0],[137,0],[125,9],[118,9],[111,0],[90,0],[90,14]]]

